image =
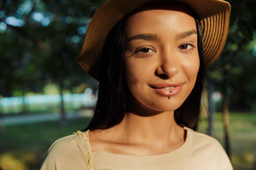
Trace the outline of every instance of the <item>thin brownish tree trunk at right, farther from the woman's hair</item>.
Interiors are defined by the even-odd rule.
[[[222,118],[224,124],[224,139],[225,139],[225,150],[227,155],[230,157],[230,143],[229,143],[229,95],[227,93],[228,88],[228,73],[230,65],[226,64],[224,68],[224,80],[223,80],[223,108],[222,108]]]

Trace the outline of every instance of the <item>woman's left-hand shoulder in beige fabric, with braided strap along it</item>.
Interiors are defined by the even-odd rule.
[[[88,132],[81,132],[85,137]],[[40,170],[86,169],[89,141],[79,135],[69,135],[55,141],[49,148]]]

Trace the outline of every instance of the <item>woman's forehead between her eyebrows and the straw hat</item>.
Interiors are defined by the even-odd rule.
[[[127,20],[128,37],[140,33],[173,35],[196,30],[193,11],[177,2],[147,4],[133,11]]]

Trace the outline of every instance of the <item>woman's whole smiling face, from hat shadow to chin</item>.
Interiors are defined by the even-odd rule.
[[[136,108],[175,110],[195,85],[200,64],[195,19],[186,7],[168,5],[148,5],[127,20],[125,74]]]

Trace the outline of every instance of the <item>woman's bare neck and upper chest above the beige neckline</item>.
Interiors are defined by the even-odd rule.
[[[93,150],[123,155],[158,155],[185,141],[184,129],[176,124],[173,111],[153,115],[127,112],[117,126],[90,132]]]

